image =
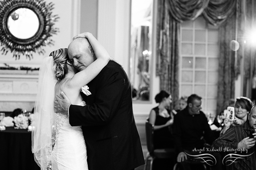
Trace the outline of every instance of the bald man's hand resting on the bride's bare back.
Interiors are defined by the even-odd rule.
[[[55,113],[68,114],[68,110],[69,110],[69,106],[71,105],[71,102],[64,92],[61,92],[61,95],[63,96],[63,99],[60,98],[59,96],[55,96],[55,100],[54,100]]]

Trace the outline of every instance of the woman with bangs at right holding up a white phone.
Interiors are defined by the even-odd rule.
[[[222,136],[229,128],[236,125],[242,125],[248,120],[248,114],[252,108],[253,104],[251,100],[247,97],[236,98],[235,103],[235,119],[234,121],[229,121],[227,118],[224,119],[224,126],[220,131],[220,136]]]

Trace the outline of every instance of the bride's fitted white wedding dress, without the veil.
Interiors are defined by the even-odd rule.
[[[80,106],[85,106],[82,101]],[[81,126],[71,126],[68,114],[55,113],[55,144],[52,170],[88,170],[86,145]]]

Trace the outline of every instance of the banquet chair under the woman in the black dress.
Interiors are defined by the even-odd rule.
[[[152,165],[154,159],[165,159],[165,158],[174,158],[175,149],[174,148],[164,148],[164,149],[155,149],[153,144],[154,138],[154,125],[146,121],[146,141],[148,148],[148,156],[146,158],[146,165],[144,170],[152,170]]]

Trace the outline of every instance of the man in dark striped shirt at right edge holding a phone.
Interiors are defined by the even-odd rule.
[[[254,170],[256,169],[256,147],[255,147],[255,131],[252,132],[252,138],[249,138],[250,130],[256,130],[256,107],[251,109],[249,114],[249,121],[246,121],[243,125],[238,125],[233,128],[229,128],[224,135],[216,139],[212,143],[213,148],[229,148],[238,149],[236,154],[250,155],[236,159],[233,162],[235,170]],[[241,151],[241,150],[245,151]],[[240,150],[240,151],[239,151]],[[230,153],[231,154],[231,153]],[[235,155],[232,155],[235,156]]]

